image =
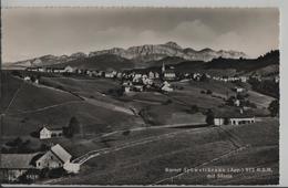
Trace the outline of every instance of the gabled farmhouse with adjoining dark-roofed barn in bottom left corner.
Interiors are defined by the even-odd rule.
[[[33,154],[1,154],[1,182],[18,181],[20,177],[37,180],[42,169],[63,168],[66,173],[78,173],[80,165],[71,161],[71,154],[56,144],[47,152]]]

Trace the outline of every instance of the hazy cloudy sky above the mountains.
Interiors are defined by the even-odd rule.
[[[277,8],[13,8],[1,13],[2,62],[168,41],[250,58],[279,45]]]

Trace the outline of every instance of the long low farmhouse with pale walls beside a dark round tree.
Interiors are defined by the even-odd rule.
[[[248,112],[223,112],[214,116],[214,125],[240,125],[255,123],[255,116]]]

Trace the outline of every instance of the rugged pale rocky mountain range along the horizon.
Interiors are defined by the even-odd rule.
[[[107,60],[105,60],[107,58]],[[203,61],[208,62],[213,59],[239,59],[247,58],[244,52],[238,51],[215,51],[212,49],[194,50],[191,48],[182,48],[176,42],[167,42],[165,44],[145,44],[138,46],[131,46],[127,49],[113,48],[109,50],[101,50],[90,52],[85,54],[83,52],[76,52],[71,55],[44,55],[30,60],[19,61],[14,63],[4,64],[7,66],[60,66],[73,64],[78,67],[89,66],[94,69],[107,67],[103,63],[116,66],[120,69],[128,67],[147,67],[154,65],[153,63],[165,60],[167,58],[174,58],[174,60],[181,61]],[[113,63],[112,63],[113,62]],[[175,62],[175,61],[173,61]],[[88,64],[85,64],[88,63]]]

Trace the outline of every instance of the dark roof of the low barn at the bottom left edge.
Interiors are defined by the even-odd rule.
[[[33,168],[32,159],[39,155],[34,154],[1,154],[0,168],[28,169]]]

